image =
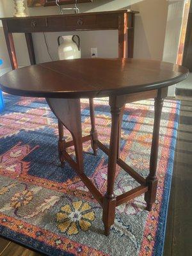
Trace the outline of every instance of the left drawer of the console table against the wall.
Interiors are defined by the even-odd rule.
[[[31,32],[39,28],[46,28],[47,26],[47,18],[8,20],[8,28],[12,32]]]

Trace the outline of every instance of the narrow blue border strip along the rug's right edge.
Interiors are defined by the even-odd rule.
[[[156,242],[154,244],[153,256],[163,256],[164,252],[164,240],[166,236],[166,222],[168,216],[168,207],[170,201],[170,192],[172,188],[172,175],[173,175],[173,166],[175,158],[175,146],[177,143],[177,132],[179,126],[179,113],[180,113],[180,100],[176,100],[176,114],[174,120],[174,129],[172,132],[172,140],[170,147],[170,156],[167,164],[168,172],[166,172],[166,177],[164,180],[164,189],[163,189],[163,200],[161,201],[161,211],[159,213],[157,232],[156,232]],[[168,188],[168,189],[165,189]],[[162,239],[163,237],[163,239]],[[158,239],[159,238],[159,239]],[[163,240],[163,241],[162,241]]]

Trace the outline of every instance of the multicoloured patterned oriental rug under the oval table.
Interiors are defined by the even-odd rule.
[[[179,102],[165,100],[157,167],[158,193],[152,212],[144,196],[116,209],[109,237],[103,234],[102,209],[68,164],[58,160],[57,120],[44,99],[4,94],[0,115],[0,234],[47,255],[159,256],[163,252]],[[108,99],[95,99],[99,138],[109,144]],[[148,174],[154,101],[127,104],[121,158],[143,177]],[[90,133],[88,101],[82,100],[83,136]],[[65,133],[67,140],[70,134]],[[69,148],[74,155],[74,148]],[[84,143],[85,173],[104,194],[107,156],[92,155]],[[116,168],[115,194],[138,186]]]

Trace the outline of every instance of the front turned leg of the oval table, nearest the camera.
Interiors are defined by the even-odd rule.
[[[122,111],[122,106],[118,106],[117,97],[111,97],[109,99],[109,105],[111,106],[112,124],[108,159],[108,189],[104,196],[102,215],[106,236],[109,235],[110,227],[115,221],[116,196],[113,193],[113,189],[115,183],[116,159],[118,154],[118,127],[120,124],[120,113]]]

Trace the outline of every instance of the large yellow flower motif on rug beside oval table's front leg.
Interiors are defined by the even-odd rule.
[[[66,204],[61,207],[60,212],[56,214],[58,228],[62,233],[68,236],[79,233],[79,227],[83,231],[87,231],[95,220],[95,212],[87,202],[76,201],[72,205]]]

